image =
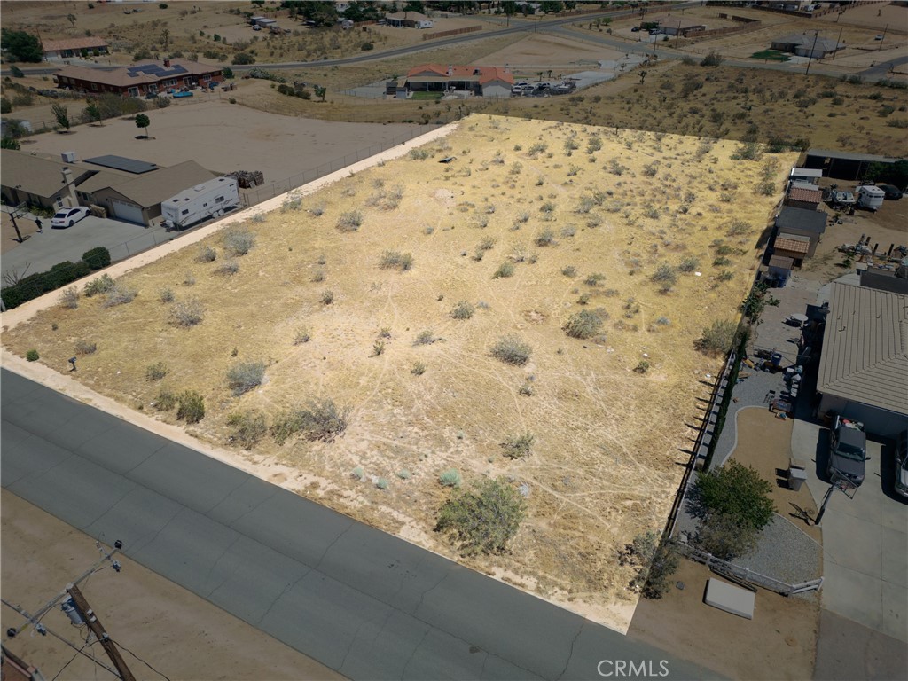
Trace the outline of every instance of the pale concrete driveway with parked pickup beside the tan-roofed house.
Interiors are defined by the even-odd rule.
[[[811,461],[807,486],[819,508],[829,489],[829,430],[797,419],[792,453]],[[893,445],[867,442],[867,476],[853,499],[834,491],[822,520],[823,607],[908,643],[908,503],[893,492]]]

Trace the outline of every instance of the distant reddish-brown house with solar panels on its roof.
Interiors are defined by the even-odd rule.
[[[100,71],[84,66],[64,66],[54,74],[57,87],[86,94],[119,94],[143,97],[223,82],[220,66],[200,62],[143,60],[133,66]]]

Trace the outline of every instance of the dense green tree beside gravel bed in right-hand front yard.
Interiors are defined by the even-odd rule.
[[[775,513],[772,489],[755,469],[731,459],[720,469],[700,474],[694,498],[706,514],[734,518],[739,528],[759,531]]]

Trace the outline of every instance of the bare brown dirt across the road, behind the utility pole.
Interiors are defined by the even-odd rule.
[[[15,494],[4,492],[3,596],[34,613],[66,584],[91,568],[100,558],[94,538],[44,513]],[[183,587],[159,577],[122,555],[123,570],[106,568],[80,587],[108,634],[170,678],[194,679],[341,679],[331,669],[263,634],[242,620],[212,606]],[[20,627],[24,617],[3,607],[2,624]],[[81,646],[82,633],[54,607],[42,619],[45,627]],[[245,645],[238,646],[242,641]],[[54,636],[35,636],[32,628],[6,639],[15,655],[38,667],[44,678],[109,678],[91,657],[110,666],[101,646],[87,648],[85,656]],[[248,650],[256,654],[250,656]],[[166,651],[166,652],[165,652]],[[123,659],[137,679],[160,679],[131,653]]]

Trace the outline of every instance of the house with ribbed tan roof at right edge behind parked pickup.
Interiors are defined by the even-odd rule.
[[[887,438],[908,428],[908,296],[832,284],[816,390],[822,414]]]

